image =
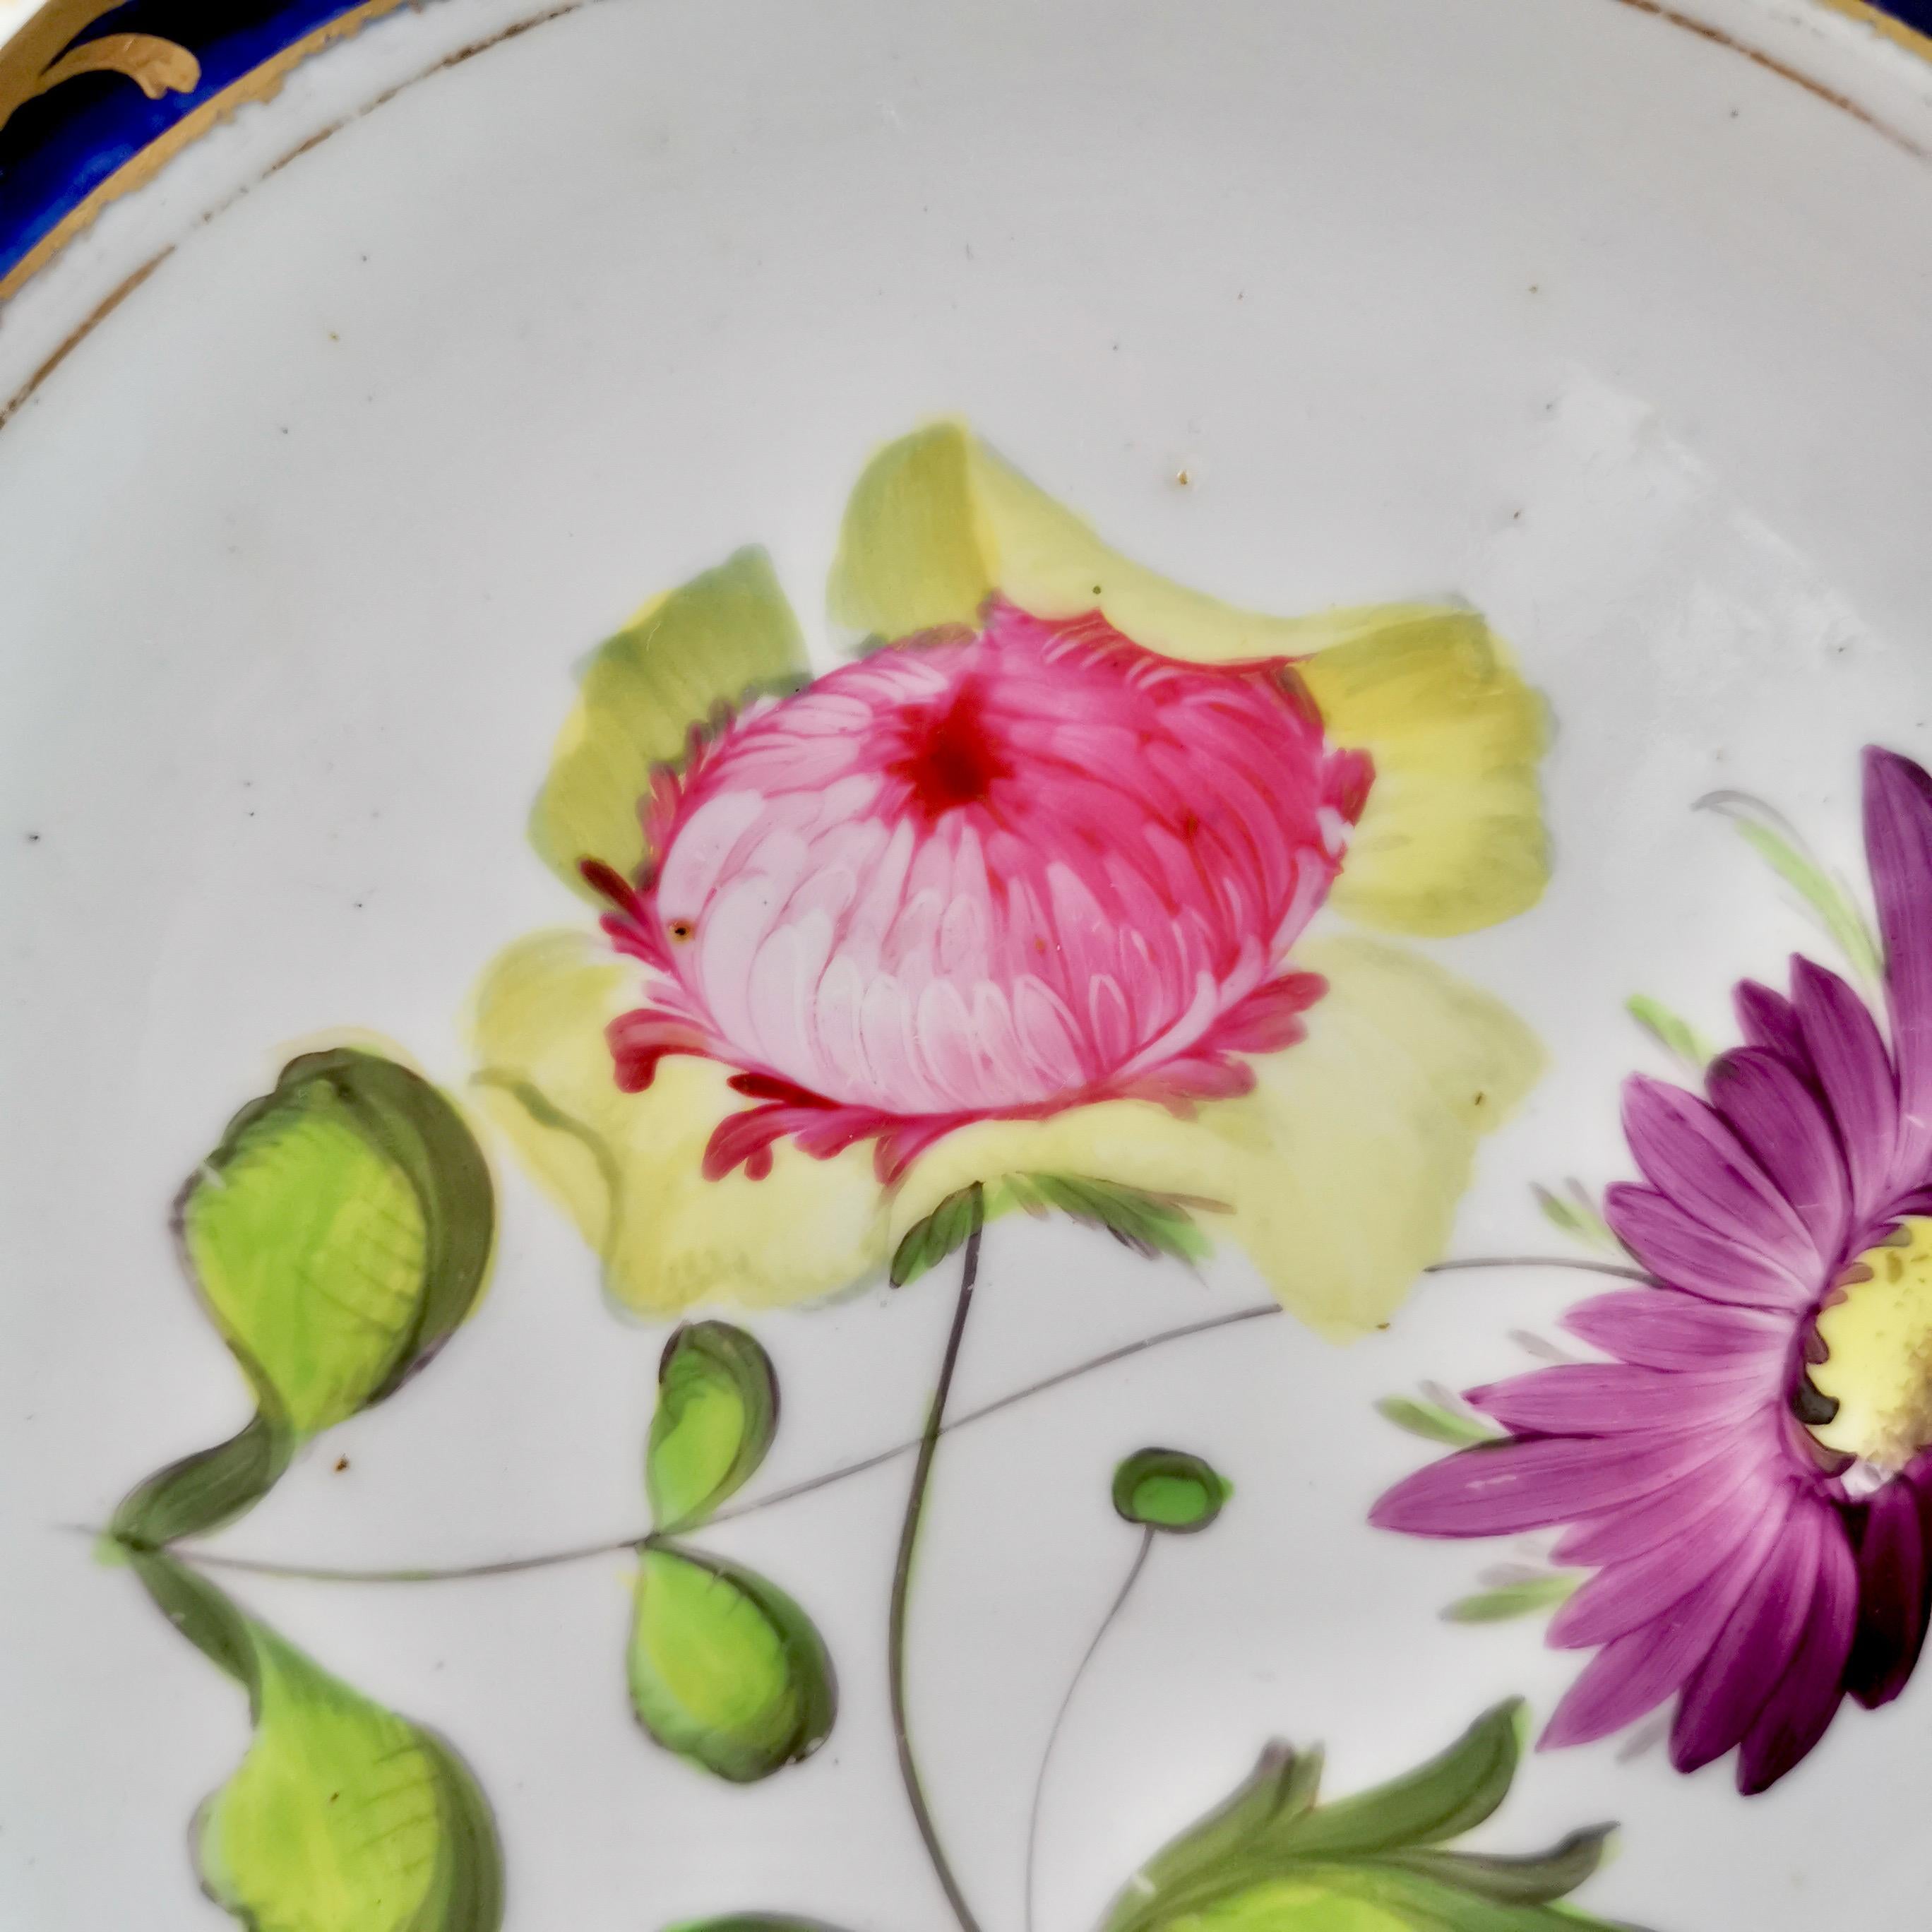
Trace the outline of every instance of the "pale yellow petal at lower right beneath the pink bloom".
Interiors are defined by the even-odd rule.
[[[1227,1204],[1202,1227],[1246,1248],[1310,1327],[1379,1327],[1441,1256],[1476,1142],[1528,1092],[1542,1051],[1490,995],[1403,949],[1331,939],[1296,964],[1329,991],[1306,1039],[1254,1059],[1252,1094],[1192,1121],[1109,1101],[966,1128],[902,1182],[895,1242],[947,1194],[1009,1173],[1194,1194]]]

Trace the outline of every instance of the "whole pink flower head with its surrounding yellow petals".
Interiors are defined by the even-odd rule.
[[[1381,1321],[1536,1049],[1306,927],[1542,891],[1542,707],[1482,620],[1225,609],[952,427],[866,471],[831,605],[891,641],[810,684],[759,553],[649,607],[537,806],[605,939],[497,962],[481,1078],[614,1293],[823,1294],[1061,1175],[1225,1204],[1310,1321]]]

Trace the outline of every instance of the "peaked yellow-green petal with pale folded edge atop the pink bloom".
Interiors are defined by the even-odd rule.
[[[1150,651],[1196,663],[1304,657],[1439,614],[1432,605],[1296,618],[1240,611],[1111,551],[962,423],[887,444],[846,502],[827,593],[833,622],[856,638],[904,638],[974,622],[995,589],[1036,616],[1099,611]]]

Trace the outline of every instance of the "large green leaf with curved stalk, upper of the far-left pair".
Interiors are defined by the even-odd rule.
[[[143,1482],[114,1534],[155,1548],[259,1501],[296,1447],[442,1347],[483,1289],[493,1233],[483,1153],[427,1080],[357,1049],[290,1061],[176,1204],[182,1258],[255,1422]]]

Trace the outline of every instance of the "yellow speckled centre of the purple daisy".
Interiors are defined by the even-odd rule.
[[[1837,1414],[1812,1435],[1897,1474],[1932,1447],[1932,1221],[1901,1221],[1847,1279],[1845,1298],[1818,1316],[1832,1356],[1810,1379]]]

